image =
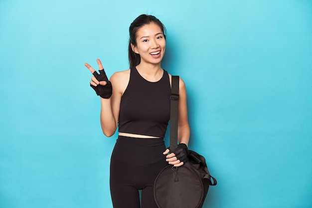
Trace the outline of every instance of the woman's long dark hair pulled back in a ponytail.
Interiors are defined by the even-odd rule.
[[[164,35],[164,38],[166,38],[166,28],[164,25],[161,23],[159,19],[157,19],[153,15],[147,15],[147,14],[141,14],[138,16],[131,24],[129,27],[129,46],[128,46],[128,54],[129,54],[129,64],[130,68],[133,66],[137,66],[141,62],[141,57],[138,53],[135,53],[132,50],[131,43],[135,46],[137,46],[137,32],[140,27],[143,27],[146,24],[150,24],[151,22],[156,23],[160,29],[162,30],[162,33]]]

